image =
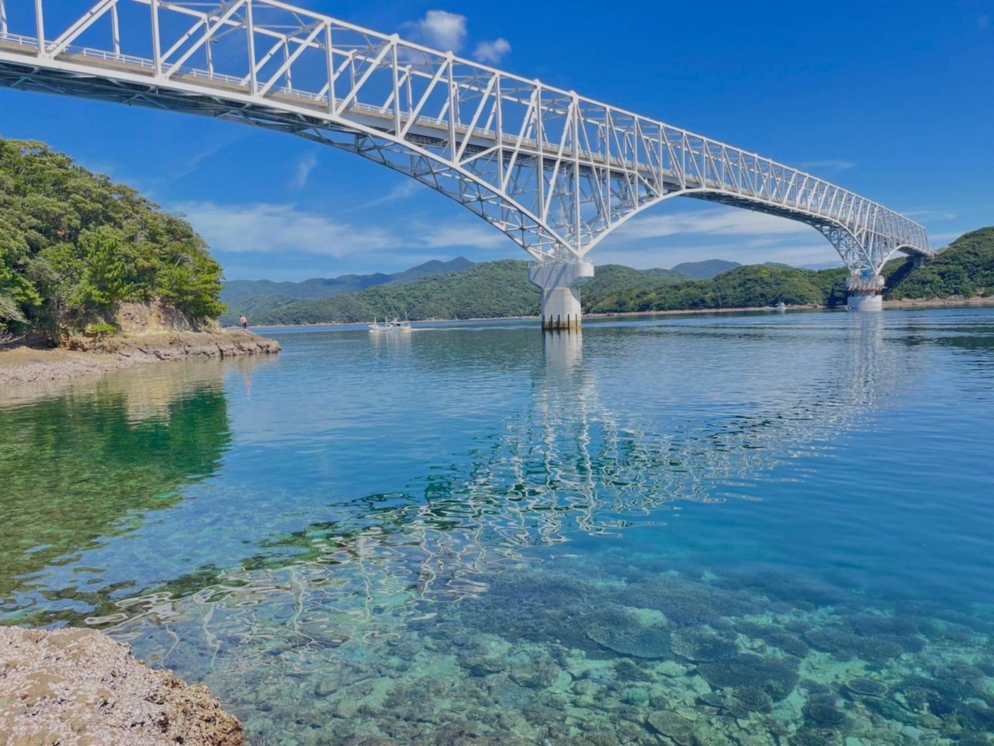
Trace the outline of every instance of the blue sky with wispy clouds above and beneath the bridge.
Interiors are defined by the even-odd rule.
[[[994,224],[994,0],[297,2],[803,167],[909,215],[938,246]],[[0,136],[49,142],[184,212],[230,279],[526,258],[440,195],[295,137],[11,91]],[[838,264],[806,226],[683,199],[590,258]]]

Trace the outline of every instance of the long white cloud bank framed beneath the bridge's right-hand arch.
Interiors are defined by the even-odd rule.
[[[810,226],[775,215],[735,208],[713,208],[672,215],[633,218],[614,233],[619,240],[643,241],[681,234],[722,236],[769,236],[805,234]]]

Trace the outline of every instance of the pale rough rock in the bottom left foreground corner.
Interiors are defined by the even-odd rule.
[[[0,627],[0,744],[245,743],[205,684],[149,668],[101,633]]]

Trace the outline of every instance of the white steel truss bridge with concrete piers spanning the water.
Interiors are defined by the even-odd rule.
[[[877,309],[895,252],[925,229],[755,153],[280,0],[0,0],[0,86],[228,119],[407,174],[536,261],[547,326],[580,323],[586,255],[671,197],[812,226]]]

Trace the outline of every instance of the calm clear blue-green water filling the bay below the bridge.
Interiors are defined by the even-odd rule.
[[[994,312],[266,333],[0,394],[0,621],[258,744],[994,744]]]

